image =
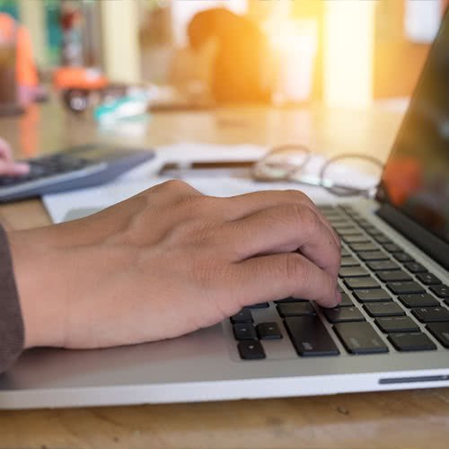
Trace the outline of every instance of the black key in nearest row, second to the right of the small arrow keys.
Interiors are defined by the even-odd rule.
[[[369,322],[342,322],[335,324],[334,330],[351,354],[388,352],[387,346]]]

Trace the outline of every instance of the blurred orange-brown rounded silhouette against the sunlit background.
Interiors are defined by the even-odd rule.
[[[184,91],[202,84],[218,103],[271,101],[277,64],[265,29],[287,17],[283,3],[250,0],[244,15],[221,7],[195,14],[189,47],[174,58],[172,84]]]

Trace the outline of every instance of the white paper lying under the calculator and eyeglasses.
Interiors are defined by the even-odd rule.
[[[110,184],[45,195],[42,199],[53,223],[61,223],[69,219],[90,215],[130,198],[164,180],[169,180],[169,178],[157,175],[165,163],[189,165],[193,162],[257,161],[268,150],[269,148],[258,145],[196,143],[166,145],[157,149],[154,160],[142,164]],[[301,189],[317,203],[334,203],[339,199],[326,189],[297,182],[257,182],[251,179],[238,178],[233,176],[232,169],[227,176],[187,176],[183,180],[203,194],[214,197],[232,197],[260,190]]]

